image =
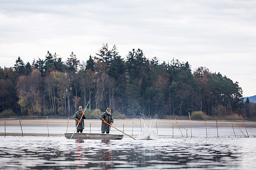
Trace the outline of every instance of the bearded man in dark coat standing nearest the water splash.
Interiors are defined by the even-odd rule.
[[[101,122],[101,133],[107,133],[109,134],[110,132],[110,125],[106,124],[109,123],[112,124],[114,123],[114,118],[112,116],[112,114],[110,113],[111,109],[109,107],[107,107],[106,112],[102,113],[100,116],[100,120]]]

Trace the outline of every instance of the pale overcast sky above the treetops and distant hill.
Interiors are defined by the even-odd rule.
[[[103,44],[122,57],[142,49],[151,60],[203,66],[256,95],[254,0],[0,0],[0,67],[47,51],[81,61]]]

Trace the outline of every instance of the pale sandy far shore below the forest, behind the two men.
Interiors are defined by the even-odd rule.
[[[182,120],[176,119],[179,126],[190,126],[189,120]],[[19,119],[0,119],[0,126],[4,126],[4,122],[6,121],[6,126],[20,126]],[[22,126],[47,126],[47,119],[20,119]],[[140,126],[140,123],[147,124],[147,125],[156,125],[158,128],[170,128],[173,125],[177,125],[174,119],[114,119],[113,126],[114,127],[123,127],[125,126],[132,126],[132,122],[134,126]],[[207,126],[216,126],[216,120],[206,120]],[[236,124],[239,127],[244,127],[242,120],[218,120],[218,126],[230,126],[231,123]],[[69,123],[69,125],[68,125]],[[99,119],[86,119],[85,124],[90,124],[93,127],[100,127],[101,120]],[[204,120],[191,120],[192,127],[193,126],[205,126]],[[246,128],[256,128],[256,121],[244,121]],[[74,126],[75,127],[75,120],[73,118],[68,119],[55,119],[55,118],[48,118],[48,126]]]

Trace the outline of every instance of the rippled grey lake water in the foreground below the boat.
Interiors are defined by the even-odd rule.
[[[255,169],[256,138],[0,136],[0,169]]]

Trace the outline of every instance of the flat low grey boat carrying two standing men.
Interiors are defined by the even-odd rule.
[[[70,139],[73,133],[65,133]],[[101,134],[101,133],[74,133],[72,139],[123,139],[124,135]]]

